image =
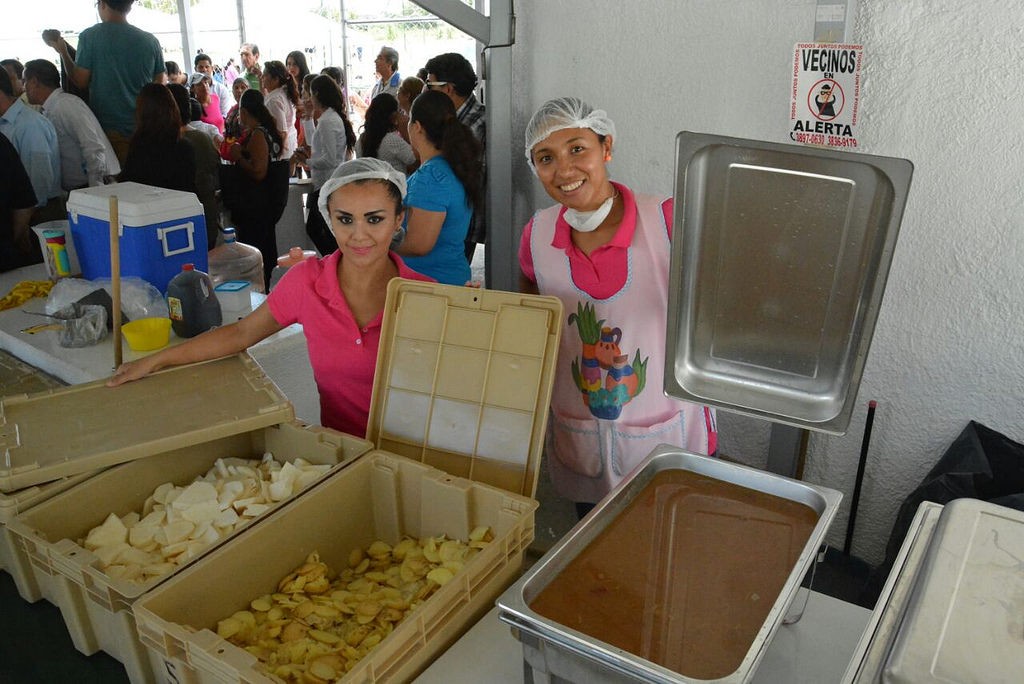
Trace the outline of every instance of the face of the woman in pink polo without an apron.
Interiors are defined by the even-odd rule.
[[[403,213],[389,187],[387,181],[356,181],[342,185],[328,198],[331,231],[344,263],[361,268],[388,258]]]

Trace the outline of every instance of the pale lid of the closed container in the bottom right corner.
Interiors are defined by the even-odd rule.
[[[1024,511],[942,510],[882,681],[1017,682],[1024,672]]]

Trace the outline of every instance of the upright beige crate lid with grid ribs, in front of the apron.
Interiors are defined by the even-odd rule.
[[[555,297],[392,280],[367,438],[532,498],[561,315]]]

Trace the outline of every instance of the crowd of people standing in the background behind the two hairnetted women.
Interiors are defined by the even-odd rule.
[[[191,65],[165,60],[159,41],[128,22],[132,2],[97,2],[100,22],[76,46],[45,31],[52,60],[0,62],[0,131],[22,167],[2,178],[0,268],[42,259],[30,228],[65,218],[69,193],[136,181],[196,193],[210,246],[229,221],[240,240],[260,248],[269,286],[289,178],[309,178],[306,231],[326,256],[337,244],[317,210],[318,190],[340,163],[373,157],[409,178],[414,201],[431,198],[407,214],[399,249],[422,261],[424,273],[465,282],[485,236],[483,106],[465,57],[441,54],[403,78],[398,51],[383,46],[378,80],[364,97],[339,67],[311,73],[302,50],[267,60],[246,42],[238,63],[232,56],[217,65],[203,51]],[[420,108],[433,113],[429,125],[412,114],[421,96],[433,102]],[[11,189],[16,171],[29,178],[31,202],[24,188]],[[443,201],[434,201],[440,188]],[[458,260],[455,246],[462,246]],[[435,263],[447,266],[431,272]]]

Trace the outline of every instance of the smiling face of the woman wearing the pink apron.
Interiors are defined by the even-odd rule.
[[[605,163],[611,136],[601,141],[589,128],[564,128],[530,151],[537,176],[552,200],[578,211],[593,211],[611,194]]]

